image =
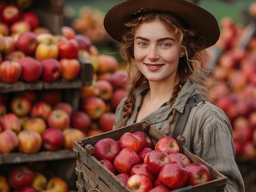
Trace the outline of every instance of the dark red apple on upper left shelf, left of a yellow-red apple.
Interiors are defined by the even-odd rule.
[[[16,41],[17,49],[23,51],[26,55],[33,55],[37,45],[36,33],[32,31],[21,33]]]

